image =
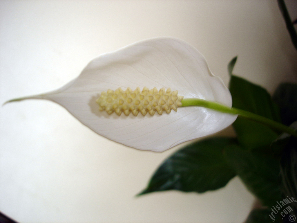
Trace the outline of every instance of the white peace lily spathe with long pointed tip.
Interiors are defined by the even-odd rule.
[[[176,111],[167,109],[170,113],[162,113],[158,109],[155,109],[157,112],[149,112],[151,107],[145,110],[141,107],[133,115],[132,110],[136,106],[133,104],[131,113],[124,114],[122,108],[121,111],[118,109],[118,112],[113,112],[116,106],[104,106],[98,98],[108,94],[112,96],[119,87],[121,89],[117,93],[121,92],[121,97],[128,91],[133,94],[135,89],[139,93],[137,97],[144,91],[161,96],[166,92],[176,96],[178,91],[179,99],[182,96],[199,98],[232,106],[229,90],[219,77],[211,73],[204,57],[188,43],[173,38],[145,40],[103,54],[92,60],[76,79],[60,89],[9,102],[52,100],[96,133],[130,147],[153,151],[164,151],[182,142],[213,134],[232,124],[237,117],[197,106],[178,107],[177,110],[173,106],[172,109]],[[166,91],[168,88],[175,92],[172,93],[170,89]],[[105,99],[109,100],[108,97]],[[141,103],[145,103],[143,101]],[[100,107],[100,103],[103,107]],[[168,100],[165,103],[170,105]],[[175,103],[181,105],[180,102]]]

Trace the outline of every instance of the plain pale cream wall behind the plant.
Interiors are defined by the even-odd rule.
[[[0,103],[56,89],[99,54],[160,36],[194,45],[226,84],[236,55],[235,73],[269,92],[297,82],[276,1],[0,1]],[[243,222],[253,204],[238,178],[204,194],[136,198],[178,147],[119,145],[49,101],[0,111],[0,211],[19,222]]]

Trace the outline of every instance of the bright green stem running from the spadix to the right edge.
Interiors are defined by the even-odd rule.
[[[266,117],[254,114],[252,112],[248,112],[248,111],[233,108],[233,107],[230,108],[228,106],[225,106],[216,102],[207,101],[207,100],[198,99],[198,98],[184,98],[183,100],[181,100],[181,103],[182,103],[182,106],[201,106],[204,108],[213,109],[223,113],[237,114],[247,119],[254,120],[264,125],[267,125],[275,130],[286,132],[297,137],[297,131],[295,131],[295,129],[290,128],[274,120],[268,119]]]

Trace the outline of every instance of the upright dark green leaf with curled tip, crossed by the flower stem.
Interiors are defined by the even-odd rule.
[[[233,59],[228,65],[231,74],[235,62],[236,59]],[[273,103],[270,95],[263,87],[231,75],[229,89],[232,95],[233,107],[280,122],[278,107]],[[241,146],[248,149],[269,145],[278,136],[269,127],[243,117],[238,117],[233,123],[233,127]]]

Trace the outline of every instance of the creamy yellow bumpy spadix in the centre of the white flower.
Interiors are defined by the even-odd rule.
[[[168,88],[158,90],[156,87],[149,89],[144,87],[142,91],[137,87],[134,91],[127,88],[123,91],[121,88],[114,90],[108,89],[107,92],[101,92],[100,97],[96,100],[99,105],[99,111],[106,111],[108,114],[116,112],[121,115],[129,115],[131,112],[137,116],[140,112],[143,116],[146,113],[154,115],[157,111],[162,114],[164,111],[168,114],[171,110],[177,111],[177,107],[181,106],[183,96],[178,96],[177,91],[171,91]]]

